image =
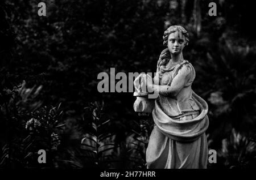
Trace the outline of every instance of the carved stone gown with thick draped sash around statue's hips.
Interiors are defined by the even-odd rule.
[[[207,168],[208,105],[191,89],[195,70],[188,61],[162,68],[160,85],[170,85],[180,74],[186,75],[185,85],[176,97],[159,95],[155,100],[147,168]]]

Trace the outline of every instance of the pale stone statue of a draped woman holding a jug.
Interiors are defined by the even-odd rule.
[[[172,25],[163,40],[167,48],[160,54],[154,79],[140,74],[134,80],[134,110],[152,113],[155,123],[146,151],[147,168],[207,168],[208,105],[191,88],[195,69],[182,53],[188,33]],[[145,87],[147,92],[141,91]],[[152,91],[158,97],[148,100]]]

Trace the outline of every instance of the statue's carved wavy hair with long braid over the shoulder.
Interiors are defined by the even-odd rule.
[[[164,35],[163,35],[163,45],[167,46],[168,44],[168,37],[171,33],[173,32],[181,32],[184,36],[185,36],[185,45],[188,45],[189,39],[188,39],[188,32],[185,28],[181,27],[180,25],[172,25],[170,26],[168,29],[166,29],[166,31],[164,31]],[[157,64],[157,70],[159,72],[159,78],[162,78],[162,74],[164,73],[164,68],[160,68],[161,66],[163,67],[164,65],[166,65],[168,63],[168,60],[171,59],[171,54],[168,50],[168,48],[164,49],[159,57],[158,60],[158,64]]]

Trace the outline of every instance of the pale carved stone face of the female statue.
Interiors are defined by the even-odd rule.
[[[179,32],[173,32],[168,37],[168,49],[171,54],[180,54],[185,47],[185,36]]]

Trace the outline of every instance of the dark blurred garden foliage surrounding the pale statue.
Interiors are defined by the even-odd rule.
[[[133,93],[99,93],[99,72],[155,72],[163,32],[182,25],[209,105],[208,168],[256,166],[256,33],[249,1],[0,2],[0,168],[145,168],[153,121]],[[217,16],[209,16],[210,2]],[[46,164],[38,163],[45,149]]]

